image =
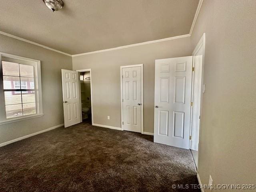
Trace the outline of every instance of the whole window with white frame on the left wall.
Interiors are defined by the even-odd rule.
[[[16,56],[18,57],[18,56]],[[18,57],[21,58],[21,57]],[[3,120],[16,120],[42,115],[40,61],[19,60],[2,55]],[[27,58],[26,58],[27,59]]]

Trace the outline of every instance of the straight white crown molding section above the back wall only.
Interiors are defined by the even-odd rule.
[[[190,37],[190,34],[180,35],[180,36],[175,36],[175,37],[169,37],[169,38],[164,38],[164,39],[158,39],[158,40],[153,40],[153,41],[146,41],[146,42],[142,42],[142,43],[125,45],[125,46],[120,46],[120,47],[115,47],[115,48],[110,48],[110,49],[103,49],[103,50],[98,50],[98,51],[92,51],[92,52],[86,52],[86,53],[81,53],[81,54],[75,54],[75,55],[72,55],[72,57],[88,55],[88,54],[94,54],[94,53],[101,53],[101,52],[106,52],[106,51],[113,51],[113,50],[124,49],[124,48],[128,48],[128,47],[135,47],[135,46],[146,45],[146,44],[151,44],[151,43],[157,43],[157,42],[162,42],[162,41],[169,41],[169,40],[178,39],[178,38],[184,38],[184,37]]]

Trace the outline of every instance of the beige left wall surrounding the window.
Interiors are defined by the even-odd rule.
[[[72,58],[3,35],[0,52],[41,60],[44,113],[42,117],[0,125],[0,143],[64,123],[61,69],[72,69]]]

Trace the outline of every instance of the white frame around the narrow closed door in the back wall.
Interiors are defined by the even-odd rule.
[[[144,126],[143,126],[143,64],[138,64],[138,65],[126,65],[126,66],[120,66],[120,84],[121,84],[121,130],[124,130],[124,125],[123,125],[123,79],[122,79],[122,70],[123,68],[129,68],[129,67],[141,67],[141,133],[144,134]]]

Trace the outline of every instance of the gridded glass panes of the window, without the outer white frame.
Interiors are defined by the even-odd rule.
[[[2,62],[6,118],[36,114],[34,67]]]

